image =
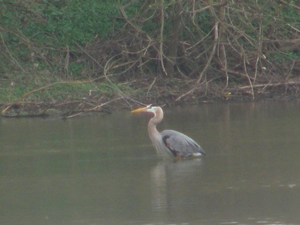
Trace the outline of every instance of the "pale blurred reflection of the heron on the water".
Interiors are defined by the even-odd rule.
[[[202,159],[160,161],[151,171],[152,208],[159,216],[180,214],[182,204],[190,202],[190,183],[201,179]],[[196,189],[198,189],[197,187]]]

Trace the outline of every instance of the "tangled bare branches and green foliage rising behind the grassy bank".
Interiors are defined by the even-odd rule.
[[[211,82],[284,82],[300,71],[299,0],[0,4],[0,76],[34,69],[113,83],[174,78],[207,94]]]

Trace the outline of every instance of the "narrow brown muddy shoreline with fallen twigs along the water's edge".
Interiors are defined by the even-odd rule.
[[[88,116],[96,113],[113,113],[120,110],[131,110],[143,104],[156,104],[164,107],[172,106],[196,106],[209,103],[224,102],[249,102],[249,101],[300,101],[299,84],[293,86],[266,87],[263,90],[255,90],[255,98],[249,90],[232,88],[222,95],[210,94],[201,96],[201,93],[193,93],[179,99],[178,93],[163,93],[162,95],[128,95],[109,97],[88,95],[81,99],[65,98],[59,101],[48,102],[13,102],[0,104],[1,117],[4,118],[33,118],[55,117],[70,119],[79,116]],[[142,92],[143,93],[143,92]],[[141,94],[141,93],[140,93]]]

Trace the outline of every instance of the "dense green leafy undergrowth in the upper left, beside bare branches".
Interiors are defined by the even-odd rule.
[[[111,1],[1,1],[1,6],[3,47],[19,67],[31,63],[60,75],[59,63],[66,53],[76,58],[81,55],[78,45],[96,37],[107,39],[124,24],[115,21],[120,13]],[[12,57],[0,57],[5,72]],[[84,69],[73,61],[68,66],[74,75]]]

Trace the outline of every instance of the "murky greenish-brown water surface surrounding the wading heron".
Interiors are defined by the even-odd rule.
[[[197,160],[159,160],[149,118],[0,119],[1,224],[300,224],[299,101],[165,110]]]

